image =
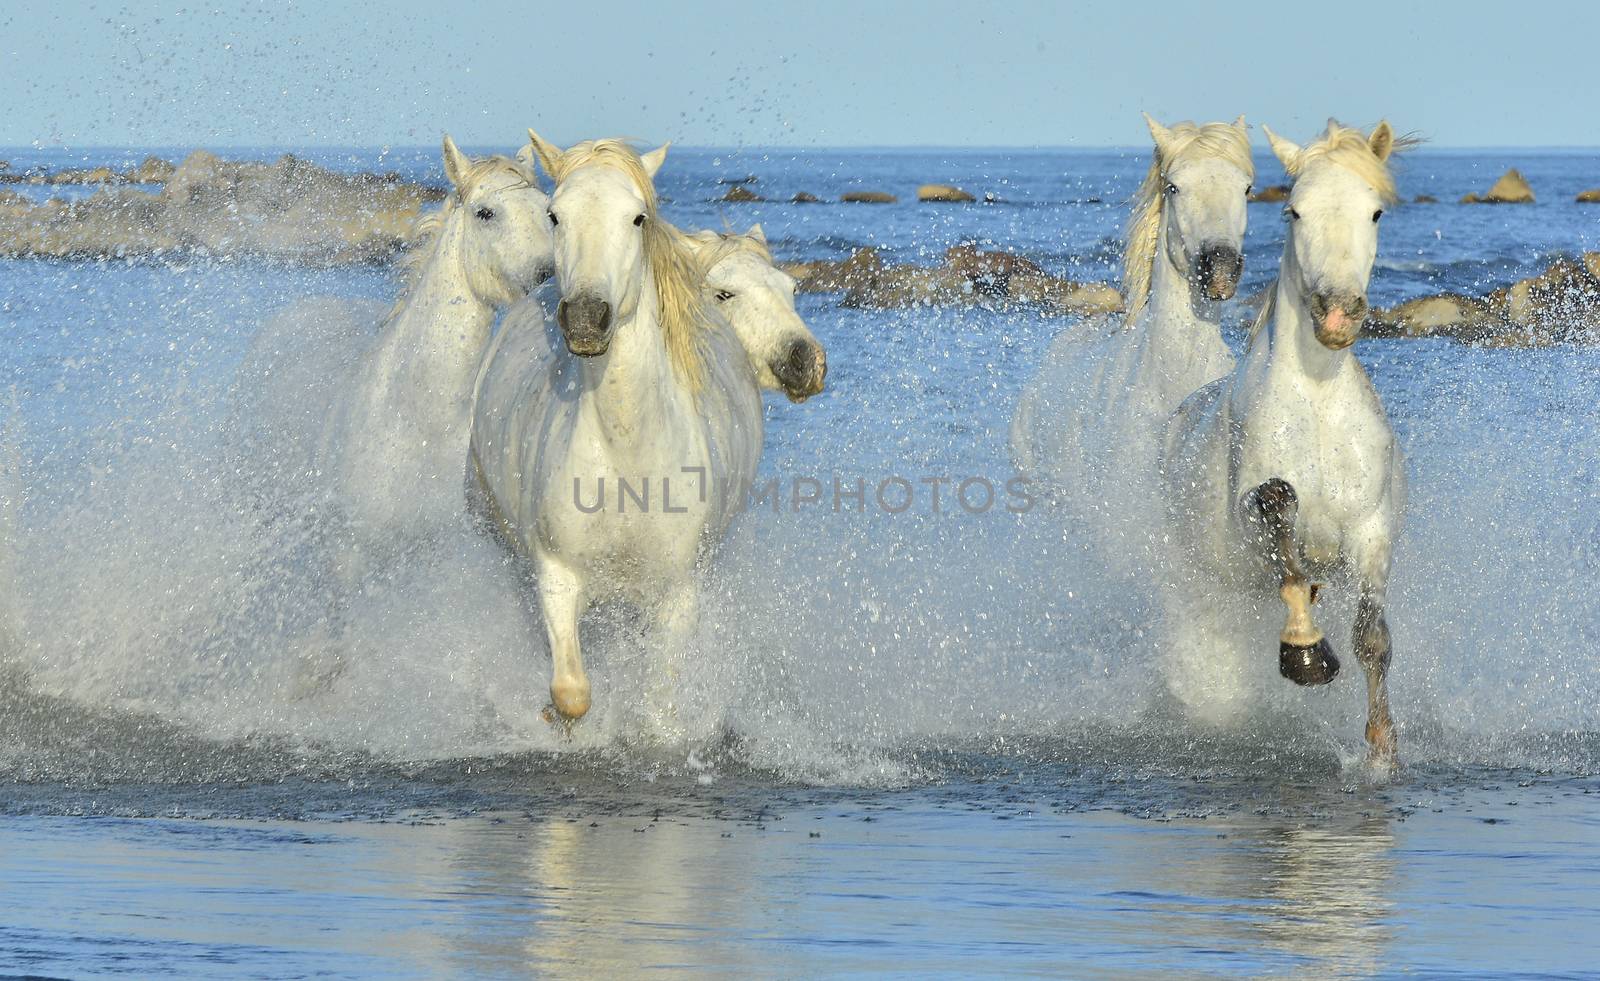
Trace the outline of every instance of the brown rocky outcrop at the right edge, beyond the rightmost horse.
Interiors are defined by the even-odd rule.
[[[1368,333],[1496,347],[1600,344],[1600,253],[1557,259],[1482,298],[1442,293],[1374,310]]]

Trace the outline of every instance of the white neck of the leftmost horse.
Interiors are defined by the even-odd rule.
[[[494,306],[470,288],[458,216],[446,219],[416,285],[389,323],[389,344],[405,350],[413,370],[450,384],[470,374],[488,342]]]

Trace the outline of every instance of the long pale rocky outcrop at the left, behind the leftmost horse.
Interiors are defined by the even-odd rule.
[[[141,168],[157,173],[158,163]],[[443,192],[394,174],[341,174],[296,157],[229,162],[195,150],[160,194],[102,189],[77,202],[0,210],[0,256],[162,253],[342,264],[384,259]]]

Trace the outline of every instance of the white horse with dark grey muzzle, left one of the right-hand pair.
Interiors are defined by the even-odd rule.
[[[1123,248],[1126,318],[1110,333],[1058,334],[1011,418],[1018,469],[1098,517],[1110,538],[1128,522],[1149,525],[1144,499],[1155,491],[1166,418],[1234,366],[1219,301],[1243,272],[1254,179],[1245,117],[1171,128],[1144,120],[1155,150]]]

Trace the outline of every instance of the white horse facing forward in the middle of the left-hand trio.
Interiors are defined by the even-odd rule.
[[[502,330],[472,459],[531,559],[550,701],[573,720],[590,704],[578,623],[592,602],[646,610],[674,655],[696,623],[696,567],[755,474],[762,402],[750,354],[702,291],[704,258],[658,213],[666,147],[640,155],[602,139],[563,152],[530,138],[555,181],[558,331]]]

